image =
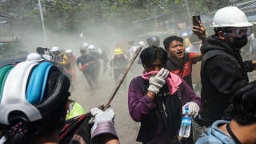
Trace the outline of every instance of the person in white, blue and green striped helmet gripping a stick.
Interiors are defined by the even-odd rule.
[[[50,62],[3,66],[0,74],[0,143],[119,143],[111,107],[91,110],[91,133],[90,113],[65,122],[70,79]]]

